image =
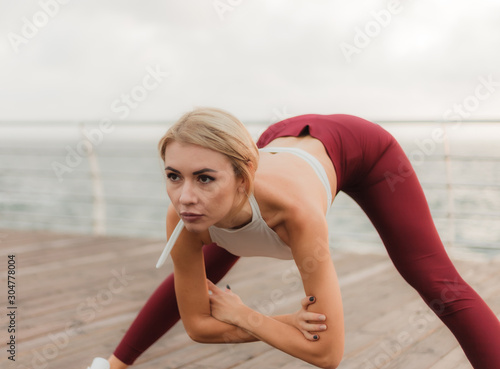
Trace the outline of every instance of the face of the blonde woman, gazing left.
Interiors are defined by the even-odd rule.
[[[173,141],[165,149],[167,193],[190,232],[227,224],[244,195],[229,159],[214,150]]]

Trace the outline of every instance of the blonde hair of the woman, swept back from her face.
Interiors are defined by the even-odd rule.
[[[216,108],[196,108],[184,114],[158,143],[163,161],[165,149],[172,141],[224,154],[233,165],[235,175],[244,179],[247,195],[253,192],[259,151],[243,123],[232,114]]]

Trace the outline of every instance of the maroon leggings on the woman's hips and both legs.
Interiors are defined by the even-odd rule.
[[[399,273],[453,332],[474,368],[500,368],[500,322],[451,263],[417,176],[396,140],[361,118],[309,114],[270,126],[257,146],[302,135],[323,143],[335,166],[338,191],[368,215]],[[216,244],[203,252],[207,277],[214,283],[238,260]],[[170,275],[140,311],[115,356],[132,364],[178,320]]]

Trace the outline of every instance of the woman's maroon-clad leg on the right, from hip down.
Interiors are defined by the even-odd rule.
[[[450,261],[395,140],[360,183],[345,192],[368,215],[403,278],[453,332],[475,369],[500,368],[500,322]]]

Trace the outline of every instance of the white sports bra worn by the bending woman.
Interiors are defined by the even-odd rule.
[[[325,169],[318,159],[302,149],[292,147],[265,147],[259,151],[271,153],[289,152],[307,161],[325,186],[328,213],[333,201],[333,195]],[[208,231],[212,241],[237,256],[267,256],[277,259],[293,259],[290,247],[279,238],[278,234],[274,232],[262,218],[259,204],[255,200],[254,195],[251,194],[248,200],[252,208],[252,221],[238,229],[211,226],[208,228]],[[161,267],[167,259],[183,227],[184,223],[180,220],[156,264],[157,268]]]

